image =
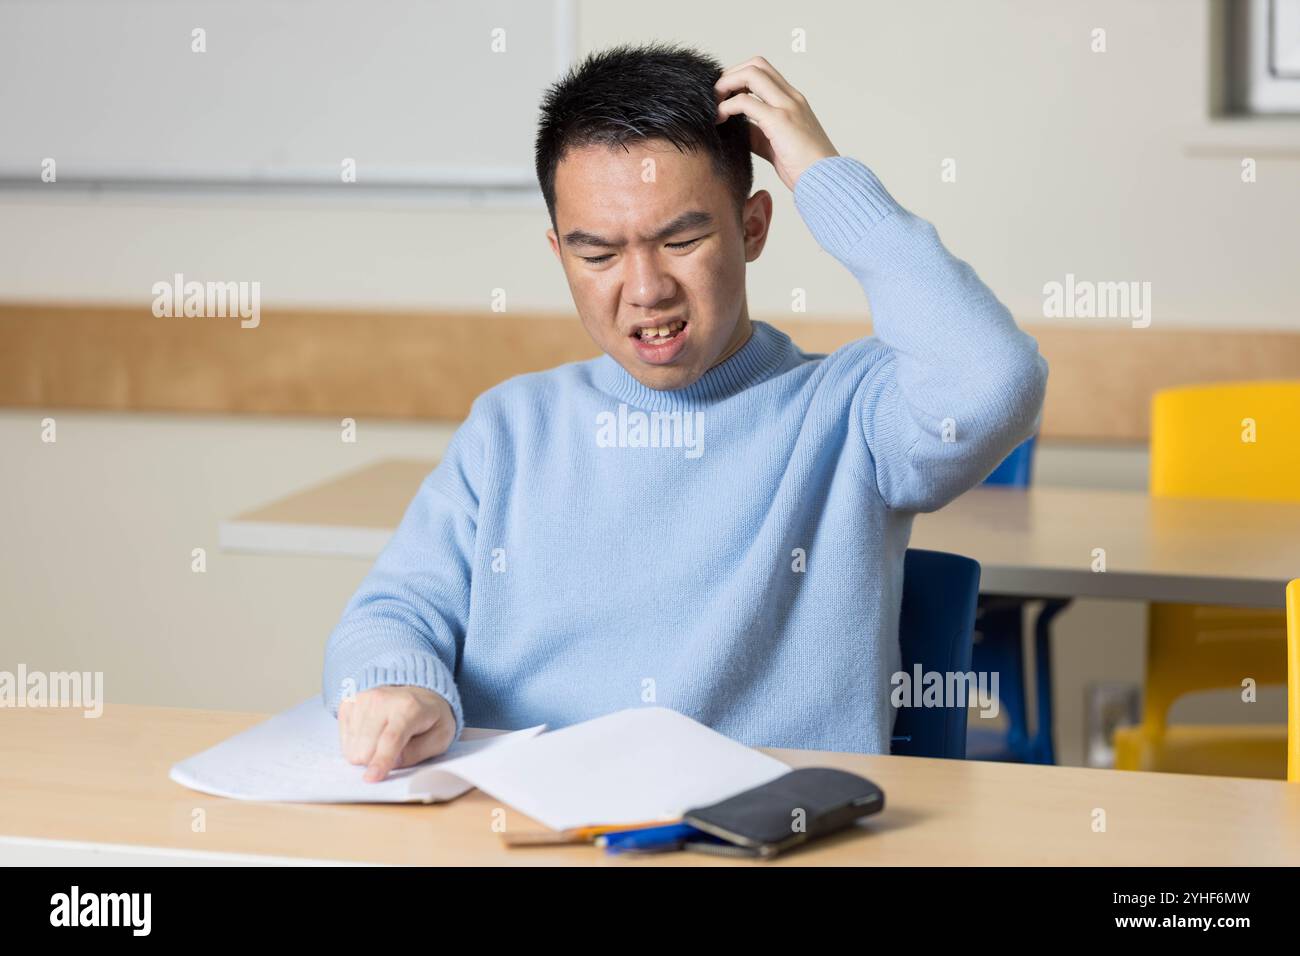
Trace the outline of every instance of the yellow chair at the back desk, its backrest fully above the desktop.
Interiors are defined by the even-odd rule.
[[[1300,381],[1158,392],[1152,401],[1150,493],[1300,502]],[[1257,685],[1287,684],[1287,646],[1282,611],[1153,604],[1143,721],[1115,731],[1115,766],[1286,777],[1287,726],[1169,724],[1167,714],[1187,693],[1240,688],[1243,678]],[[1300,745],[1295,741],[1300,734],[1295,667],[1292,662],[1292,747]]]

